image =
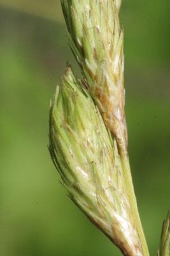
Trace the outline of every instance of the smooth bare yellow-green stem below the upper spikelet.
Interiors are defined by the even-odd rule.
[[[136,228],[138,230],[139,239],[141,241],[141,246],[143,250],[143,256],[149,256],[148,246],[145,239],[145,234],[143,232],[143,227],[141,225],[141,219],[138,212],[138,206],[136,202],[136,196],[134,193],[134,186],[132,183],[132,175],[131,175],[131,168],[129,164],[129,156],[120,156],[122,161],[122,166],[124,169],[125,175],[125,182],[127,185],[127,191],[129,193],[129,201],[131,204],[132,214],[134,215],[134,221],[136,223]]]

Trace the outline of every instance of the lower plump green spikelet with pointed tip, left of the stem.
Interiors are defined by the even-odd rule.
[[[76,205],[124,255],[142,255],[117,143],[70,67],[52,100],[50,153]]]

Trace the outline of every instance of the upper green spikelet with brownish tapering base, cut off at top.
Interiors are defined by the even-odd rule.
[[[113,0],[62,0],[69,45],[104,122],[127,155],[124,32]],[[120,1],[117,1],[120,6]]]

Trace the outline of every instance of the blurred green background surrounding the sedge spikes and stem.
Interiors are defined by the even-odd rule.
[[[66,196],[48,154],[48,109],[66,61],[59,0],[0,0],[0,255],[111,256]],[[170,208],[170,2],[123,0],[126,115],[139,212],[156,255]]]

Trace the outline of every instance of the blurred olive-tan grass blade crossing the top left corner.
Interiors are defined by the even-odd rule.
[[[62,12],[59,11],[61,8],[59,0],[0,0],[0,6],[5,6],[20,12],[30,13],[45,19],[64,22]]]

